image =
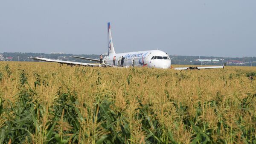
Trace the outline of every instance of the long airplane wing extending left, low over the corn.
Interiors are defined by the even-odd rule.
[[[64,61],[64,60],[56,60],[56,59],[47,59],[47,58],[40,58],[40,57],[35,57],[33,58],[34,60],[41,60],[41,61],[46,61],[46,62],[58,62],[60,64],[67,64],[67,65],[84,65],[84,66],[102,66],[102,65],[97,65],[97,64],[92,64],[92,63],[84,63],[84,62],[70,62],[70,61]]]

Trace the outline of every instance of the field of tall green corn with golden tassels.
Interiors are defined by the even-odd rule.
[[[0,62],[0,143],[256,143],[249,76]]]

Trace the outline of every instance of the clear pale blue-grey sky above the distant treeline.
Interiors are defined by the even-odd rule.
[[[256,56],[256,0],[1,0],[0,53]]]

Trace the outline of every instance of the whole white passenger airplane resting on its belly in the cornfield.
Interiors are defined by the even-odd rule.
[[[113,65],[113,57],[116,56],[115,65]],[[121,59],[124,57],[124,63],[121,66]],[[100,62],[99,59],[91,59],[80,56],[73,56],[75,58],[86,59],[94,62]],[[93,63],[84,63],[84,62],[71,62],[63,61],[56,59],[47,59],[47,58],[33,58],[35,60],[46,61],[46,62],[58,62],[60,64],[67,65],[84,65],[84,66],[98,66],[98,67],[148,67],[148,68],[171,68],[171,59],[166,52],[160,50],[150,50],[150,51],[136,51],[128,53],[118,53],[116,54],[115,48],[113,47],[112,35],[111,35],[111,26],[108,23],[108,55],[102,59],[101,64]],[[188,70],[188,69],[209,69],[209,68],[224,68],[223,66],[210,66],[210,67],[183,67],[183,68],[174,68],[175,70]]]

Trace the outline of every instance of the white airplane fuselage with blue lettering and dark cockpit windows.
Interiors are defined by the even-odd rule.
[[[124,59],[124,67],[129,66],[147,66],[149,68],[170,68],[171,60],[169,56],[159,50],[151,50],[151,51],[136,51],[129,53],[119,53],[119,54],[110,54],[105,56],[103,59],[103,63],[108,65],[113,65],[113,57],[116,56],[116,61],[114,66],[121,65],[122,56]]]

